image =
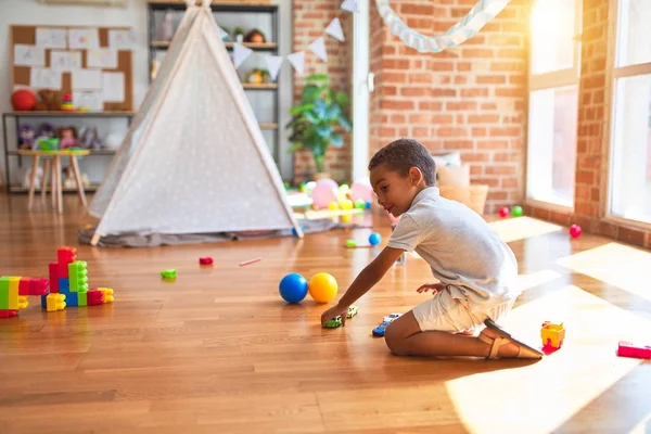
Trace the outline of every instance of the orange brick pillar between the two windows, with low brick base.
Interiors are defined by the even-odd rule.
[[[602,204],[607,202],[605,190],[601,186],[602,181],[607,181],[602,180],[602,176],[605,176],[608,13],[608,2],[584,1],[574,213],[533,206],[526,207],[525,212],[560,225],[578,224],[586,232],[651,247],[650,231],[602,219]]]

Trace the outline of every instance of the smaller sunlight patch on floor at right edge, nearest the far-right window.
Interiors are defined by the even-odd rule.
[[[558,260],[575,272],[615,285],[651,301],[651,254],[618,243],[609,243]]]

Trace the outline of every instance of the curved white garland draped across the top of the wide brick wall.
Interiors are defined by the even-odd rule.
[[[344,3],[347,1],[344,1]],[[375,7],[380,16],[382,16],[382,21],[391,29],[391,33],[400,38],[407,47],[418,50],[421,53],[439,53],[449,48],[460,46],[474,37],[510,1],[480,0],[459,23],[455,24],[446,33],[436,36],[424,36],[410,28],[394,12],[388,4],[388,0],[375,0]],[[342,4],[342,9],[344,9],[344,4]]]

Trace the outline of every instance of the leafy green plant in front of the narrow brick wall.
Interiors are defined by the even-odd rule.
[[[292,120],[285,127],[293,130],[290,136],[290,152],[310,150],[317,171],[322,173],[328,146],[343,146],[341,129],[349,131],[352,128],[350,120],[346,117],[348,102],[346,93],[330,87],[327,75],[315,74],[307,77],[301,102],[290,111]]]

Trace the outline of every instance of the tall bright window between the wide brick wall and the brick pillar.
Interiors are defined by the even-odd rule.
[[[574,204],[580,0],[535,0],[531,22],[527,197]]]

